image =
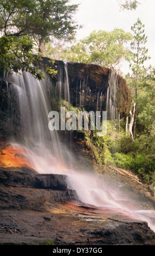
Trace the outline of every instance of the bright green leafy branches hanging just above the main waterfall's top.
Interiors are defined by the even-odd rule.
[[[11,74],[12,72],[28,71],[38,80],[44,77],[41,58],[34,56],[32,49],[34,47],[33,41],[26,36],[17,38],[16,36],[2,36],[0,38],[0,76],[4,72]],[[39,66],[36,63],[40,63]],[[31,65],[34,64],[34,65]],[[45,66],[46,71],[51,76],[54,76],[57,71],[50,68],[49,65]]]

